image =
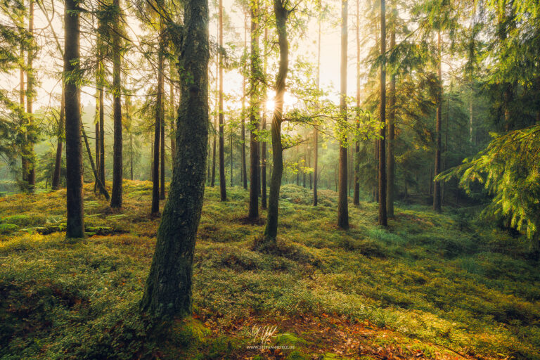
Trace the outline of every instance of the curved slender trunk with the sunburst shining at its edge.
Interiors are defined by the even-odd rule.
[[[274,0],[276,15],[276,30],[279,44],[279,70],[276,77],[276,100],[274,117],[271,124],[272,136],[272,175],[268,197],[268,216],[264,228],[264,239],[275,243],[278,235],[278,206],[281,176],[283,176],[283,147],[281,145],[281,122],[283,121],[283,98],[285,96],[285,81],[289,69],[289,44],[287,39],[287,15],[285,0]]]

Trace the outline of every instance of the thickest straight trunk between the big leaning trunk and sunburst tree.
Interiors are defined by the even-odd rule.
[[[251,3],[251,52],[250,52],[250,204],[248,219],[259,219],[259,37],[257,35],[257,0]]]

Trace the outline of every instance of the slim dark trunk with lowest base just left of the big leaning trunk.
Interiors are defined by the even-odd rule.
[[[158,54],[158,91],[155,99],[155,123],[154,123],[154,154],[152,168],[152,209],[150,213],[160,212],[160,140],[161,124],[163,122],[163,53],[165,43],[160,32],[160,47]]]

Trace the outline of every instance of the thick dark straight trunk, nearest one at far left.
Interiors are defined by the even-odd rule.
[[[73,74],[79,74],[79,12],[75,0],[65,0],[64,79],[65,82],[65,165],[66,238],[84,238],[82,198],[82,141],[80,89]]]

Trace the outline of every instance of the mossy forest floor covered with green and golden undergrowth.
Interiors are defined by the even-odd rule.
[[[540,359],[540,271],[524,238],[419,205],[381,229],[368,202],[340,231],[333,191],[314,208],[291,185],[271,254],[253,250],[264,221],[243,220],[248,193],[221,203],[206,189],[193,317],[149,328],[151,184],[125,181],[121,212],[92,190],[75,243],[65,190],[0,199],[0,359]]]

